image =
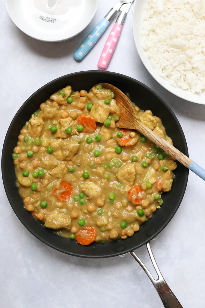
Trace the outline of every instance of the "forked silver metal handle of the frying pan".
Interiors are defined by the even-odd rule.
[[[152,253],[152,249],[150,246],[150,243],[146,244],[149,257],[152,261],[152,264],[154,266],[154,269],[156,270],[156,273],[158,275],[158,279],[154,279],[147,267],[144,265],[144,263],[137,257],[137,255],[131,251],[130,254],[132,257],[141,265],[145,273],[148,275],[149,279],[151,280],[153,286],[155,287],[157,293],[160,296],[160,299],[164,305],[165,308],[183,308],[182,305],[179,303],[178,299],[175,297],[169,286],[167,285],[166,281],[164,280],[158,265],[156,264],[154,255]]]

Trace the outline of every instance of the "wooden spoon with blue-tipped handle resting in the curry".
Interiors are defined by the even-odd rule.
[[[205,180],[205,170],[201,168],[198,164],[196,164],[189,157],[184,155],[178,149],[176,149],[173,145],[169,144],[166,140],[161,138],[151,129],[149,129],[146,125],[137,120],[137,111],[135,109],[134,103],[130,101],[130,99],[118,88],[109,83],[100,83],[104,89],[109,89],[115,94],[116,104],[121,111],[120,119],[116,122],[116,127],[119,128],[128,128],[135,129],[144,136],[146,136],[149,140],[151,140],[154,144],[158,145],[176,160],[178,160],[185,167],[193,171],[195,174],[200,176],[203,180]]]

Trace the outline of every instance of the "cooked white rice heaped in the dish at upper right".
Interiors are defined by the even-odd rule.
[[[148,0],[142,47],[174,87],[205,91],[205,0]]]

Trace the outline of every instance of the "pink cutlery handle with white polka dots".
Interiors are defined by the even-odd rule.
[[[99,62],[98,62],[98,68],[101,70],[105,70],[112,58],[113,52],[115,51],[117,42],[120,38],[120,33],[122,31],[122,25],[120,23],[115,23],[108,39],[104,45],[103,51],[101,53]]]

